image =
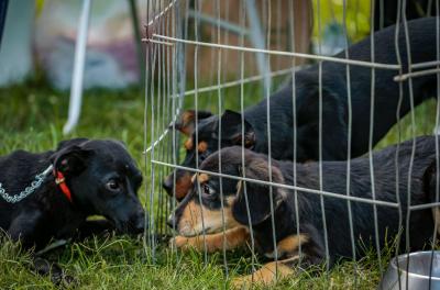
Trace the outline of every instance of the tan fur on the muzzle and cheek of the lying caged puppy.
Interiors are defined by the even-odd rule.
[[[240,226],[239,222],[232,216],[231,208],[224,204],[224,228],[230,230]],[[204,213],[204,222],[201,220]],[[207,234],[223,231],[222,210],[201,209],[200,204],[194,200],[189,201],[178,221],[178,231],[180,235],[194,236],[204,232],[204,224]]]

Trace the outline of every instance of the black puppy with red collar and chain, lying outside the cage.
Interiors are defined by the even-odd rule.
[[[55,152],[16,150],[0,157],[0,228],[25,248],[105,230],[144,231],[136,196],[142,174],[117,141],[75,138]],[[108,222],[86,221],[95,214]]]

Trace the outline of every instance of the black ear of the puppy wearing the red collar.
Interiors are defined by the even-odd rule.
[[[86,140],[87,141],[87,140]],[[80,174],[87,166],[87,158],[92,155],[91,149],[81,146],[82,143],[74,143],[62,146],[51,156],[51,161],[57,171],[73,176]]]

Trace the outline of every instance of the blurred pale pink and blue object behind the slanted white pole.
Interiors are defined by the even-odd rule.
[[[139,12],[146,11],[138,1]],[[36,19],[35,52],[51,83],[69,89],[81,1],[46,0]],[[146,19],[139,15],[139,19]],[[94,0],[84,88],[124,88],[140,78],[129,1]],[[140,23],[141,25],[141,23]]]

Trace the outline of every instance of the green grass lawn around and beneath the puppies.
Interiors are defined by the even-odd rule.
[[[249,90],[250,93],[252,90]],[[226,107],[237,107],[237,89],[224,92]],[[257,96],[257,90],[253,96]],[[248,94],[246,94],[248,96]],[[201,107],[207,101],[200,103]],[[216,100],[216,99],[211,99]],[[251,103],[252,98],[246,98]],[[0,155],[22,148],[41,152],[54,148],[65,138],[62,127],[66,120],[68,94],[54,91],[37,81],[0,89]],[[191,100],[188,100],[188,105]],[[212,104],[215,107],[215,104]],[[211,107],[211,108],[212,108]],[[417,134],[432,132],[435,102],[429,101],[416,110]],[[130,153],[143,168],[145,176],[144,149],[144,92],[139,89],[123,91],[92,90],[84,99],[81,120],[75,133],[66,137],[112,137],[128,144]],[[403,121],[402,140],[410,134],[410,120]],[[394,129],[378,145],[397,141]],[[148,179],[146,179],[148,183]],[[145,197],[144,187],[140,194]],[[219,289],[228,287],[221,254],[210,255],[204,264],[204,255],[170,253],[166,244],[156,250],[153,263],[151,252],[142,239],[130,237],[92,238],[74,243],[58,249],[51,258],[59,263],[68,274],[77,278],[78,289]],[[245,250],[228,254],[229,277],[251,270],[251,255]],[[389,257],[384,253],[383,265]],[[19,247],[0,241],[0,289],[54,288],[47,278],[33,275],[29,270],[30,256],[20,253]],[[355,266],[355,267],[354,267]],[[354,279],[356,277],[356,279]],[[380,280],[378,260],[375,254],[356,263],[343,263],[329,274],[319,269],[314,275],[302,272],[280,282],[276,289],[374,289]]]

